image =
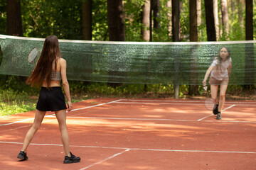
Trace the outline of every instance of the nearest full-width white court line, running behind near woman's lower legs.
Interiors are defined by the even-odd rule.
[[[17,144],[23,145],[21,142],[4,142],[4,144]],[[40,146],[57,146],[63,147],[63,145],[58,144],[38,144],[31,143],[29,145],[40,145]],[[234,154],[256,154],[256,152],[245,152],[245,151],[211,151],[211,150],[175,150],[175,149],[146,149],[146,148],[128,148],[128,147],[100,147],[100,146],[79,146],[79,145],[70,145],[70,147],[85,147],[85,148],[102,148],[102,149],[129,149],[129,150],[142,150],[142,151],[157,151],[157,152],[211,152],[211,153],[234,153]]]

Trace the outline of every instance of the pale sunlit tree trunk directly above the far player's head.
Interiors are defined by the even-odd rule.
[[[229,34],[229,24],[228,24],[228,1],[221,0],[221,13],[222,13],[222,21],[223,21],[223,33],[225,35],[224,38],[228,38]]]

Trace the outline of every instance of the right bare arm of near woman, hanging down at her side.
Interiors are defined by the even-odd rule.
[[[67,69],[67,62],[63,58],[60,58],[60,74],[61,74],[61,79],[63,81],[63,89],[65,92],[65,96],[68,99],[68,111],[71,111],[72,103],[71,103],[70,88],[68,84],[66,69]]]

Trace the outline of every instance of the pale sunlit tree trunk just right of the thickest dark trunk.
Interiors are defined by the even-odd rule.
[[[150,14],[150,0],[146,0],[144,6],[142,6],[142,38],[149,41],[149,16]]]

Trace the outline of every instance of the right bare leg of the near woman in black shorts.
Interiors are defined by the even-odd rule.
[[[70,147],[69,147],[69,137],[68,137],[68,129],[66,124],[66,111],[55,111],[56,118],[58,120],[61,140],[63,142],[65,156],[70,157]]]

